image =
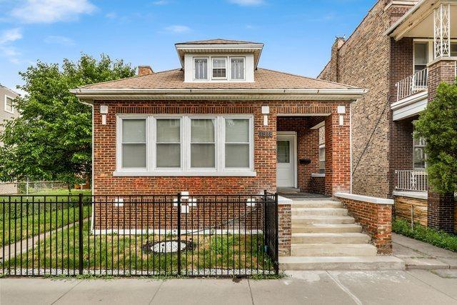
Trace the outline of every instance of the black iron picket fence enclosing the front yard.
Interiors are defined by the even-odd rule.
[[[4,276],[278,274],[278,196],[0,196]]]

